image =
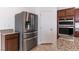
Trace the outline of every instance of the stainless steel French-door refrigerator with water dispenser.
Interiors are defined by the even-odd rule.
[[[29,12],[16,14],[15,31],[20,33],[19,50],[31,50],[37,46],[38,16]]]

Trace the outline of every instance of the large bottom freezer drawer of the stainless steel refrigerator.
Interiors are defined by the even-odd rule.
[[[37,37],[32,39],[24,39],[24,45],[23,45],[24,51],[29,51],[35,46],[37,46]]]

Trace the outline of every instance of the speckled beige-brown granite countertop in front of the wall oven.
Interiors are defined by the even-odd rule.
[[[59,37],[57,48],[63,51],[79,51],[79,37]]]

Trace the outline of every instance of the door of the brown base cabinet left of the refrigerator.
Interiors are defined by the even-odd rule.
[[[17,38],[5,40],[5,44],[6,44],[5,50],[6,51],[16,51],[16,50],[18,50],[17,42],[18,42]]]

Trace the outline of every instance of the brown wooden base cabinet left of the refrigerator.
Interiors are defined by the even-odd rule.
[[[7,34],[5,35],[5,50],[17,51],[19,48],[19,34]]]

